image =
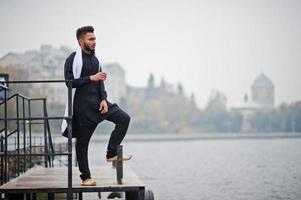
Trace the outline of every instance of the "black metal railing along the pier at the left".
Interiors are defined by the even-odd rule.
[[[46,98],[28,98],[21,94],[14,94],[8,97],[8,88],[3,83],[9,84],[22,84],[22,83],[66,83],[68,87],[68,116],[63,117],[49,117],[47,113]],[[29,157],[30,167],[32,167],[32,157],[33,156],[44,156],[45,167],[53,166],[54,156],[68,156],[68,190],[67,199],[72,199],[72,80],[36,80],[36,81],[1,81],[0,91],[4,90],[4,100],[0,102],[0,107],[4,106],[4,118],[0,118],[0,121],[4,121],[4,128],[0,130],[4,132],[0,138],[1,144],[1,184],[9,181],[8,178],[8,158],[10,156],[17,156],[17,172],[20,175],[20,157],[23,156],[23,172],[26,171],[26,157]],[[8,101],[16,100],[16,117],[8,117]],[[19,116],[19,104],[20,99],[22,103],[22,116]],[[27,101],[28,116],[25,115],[25,101]],[[32,117],[31,116],[31,102],[32,101],[42,101],[43,102],[43,117]],[[31,125],[33,121],[43,120],[44,124],[44,152],[43,153],[33,153],[32,152],[32,130]],[[52,145],[51,131],[49,120],[66,120],[68,129],[68,152],[67,153],[56,153]],[[8,122],[16,121],[17,128],[11,132],[8,132]],[[26,122],[29,124],[29,153],[26,153]],[[23,123],[23,153],[20,154],[20,124]],[[17,134],[17,151],[15,154],[8,152],[8,138],[13,134]]]

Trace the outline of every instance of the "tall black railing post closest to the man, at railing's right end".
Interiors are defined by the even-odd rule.
[[[68,192],[67,200],[73,198],[72,195],[72,82],[67,83],[68,86]]]

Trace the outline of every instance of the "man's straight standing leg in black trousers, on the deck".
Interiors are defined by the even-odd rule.
[[[80,178],[86,180],[91,178],[88,162],[88,146],[90,138],[96,128],[96,125],[79,126],[78,136],[76,138],[76,157],[78,168],[81,172]]]

